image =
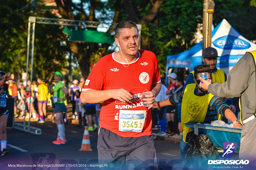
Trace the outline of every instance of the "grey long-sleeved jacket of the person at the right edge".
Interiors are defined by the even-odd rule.
[[[246,53],[230,70],[227,81],[213,83],[208,91],[218,97],[240,97],[242,121],[255,114],[256,108],[255,62],[251,53]]]

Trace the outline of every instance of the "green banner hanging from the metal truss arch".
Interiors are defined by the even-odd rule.
[[[69,36],[68,41],[85,41],[109,44],[113,44],[115,41],[109,32],[99,32],[94,30],[70,30],[65,28],[62,33]]]

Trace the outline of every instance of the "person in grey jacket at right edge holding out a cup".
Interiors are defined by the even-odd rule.
[[[203,81],[202,88],[219,97],[240,97],[241,145],[239,159],[249,160],[255,164],[256,158],[256,50],[247,52],[228,73],[224,83]],[[255,165],[254,165],[255,166]]]

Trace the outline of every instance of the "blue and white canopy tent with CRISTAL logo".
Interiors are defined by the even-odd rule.
[[[211,47],[218,51],[217,68],[226,74],[247,52],[256,50],[256,44],[244,38],[226,19],[212,31]],[[166,74],[169,68],[188,68],[189,71],[202,63],[202,41],[182,53],[167,56]]]

